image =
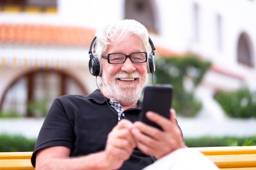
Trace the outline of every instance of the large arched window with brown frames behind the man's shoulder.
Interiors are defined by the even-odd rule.
[[[67,94],[86,95],[78,80],[63,71],[36,70],[16,78],[3,95],[2,114],[42,117],[56,97]]]

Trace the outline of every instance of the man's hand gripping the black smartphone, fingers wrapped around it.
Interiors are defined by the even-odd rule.
[[[170,120],[150,111],[146,116],[161,126],[163,131],[142,122],[135,122],[132,134],[142,152],[159,159],[178,148],[185,147],[182,132],[175,121],[174,109],[170,110]]]

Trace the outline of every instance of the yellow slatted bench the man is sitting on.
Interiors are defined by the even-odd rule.
[[[207,155],[222,170],[256,170],[256,146],[190,148]],[[34,170],[32,152],[0,152],[0,170]]]

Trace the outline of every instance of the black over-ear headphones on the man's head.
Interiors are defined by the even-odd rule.
[[[92,46],[95,42],[97,37],[94,37],[92,40],[92,43],[90,45],[90,50],[89,50],[89,55],[90,55],[90,60],[89,60],[89,70],[90,73],[94,76],[99,76],[101,75],[101,63],[99,62],[99,59],[96,55],[92,55]],[[149,44],[151,46],[151,53],[148,56],[148,73],[153,73],[155,71],[155,46],[150,38],[148,38]]]

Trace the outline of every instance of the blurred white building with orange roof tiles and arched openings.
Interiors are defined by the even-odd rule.
[[[213,95],[256,89],[254,0],[3,0],[0,2],[0,110],[31,115],[29,106],[92,92],[89,46],[105,21],[144,24],[156,56],[193,52],[212,66],[198,87],[203,110],[221,112]],[[39,115],[41,113],[38,113]]]

